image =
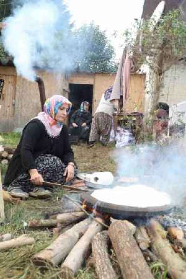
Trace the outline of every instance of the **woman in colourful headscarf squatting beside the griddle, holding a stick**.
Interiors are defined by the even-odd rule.
[[[47,182],[69,182],[74,177],[74,154],[64,123],[71,102],[60,95],[46,100],[44,112],[31,119],[9,163],[4,187],[14,197],[48,197]]]

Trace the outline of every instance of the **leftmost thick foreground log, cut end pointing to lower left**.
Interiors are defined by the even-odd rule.
[[[86,232],[90,222],[90,218],[87,218],[59,235],[46,249],[33,257],[33,263],[41,267],[45,266],[46,263],[53,267],[61,263],[79,238]]]

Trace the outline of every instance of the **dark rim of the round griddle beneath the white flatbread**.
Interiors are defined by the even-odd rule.
[[[94,208],[98,212],[106,213],[114,218],[142,218],[153,217],[154,215],[168,214],[173,209],[174,205],[152,206],[152,207],[134,207],[115,205],[112,203],[105,203],[93,198],[89,193],[83,193],[80,196],[81,201],[85,203],[88,208]]]

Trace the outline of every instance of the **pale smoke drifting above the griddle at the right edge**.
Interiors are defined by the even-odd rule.
[[[138,145],[133,150],[124,148],[114,152],[119,177],[137,177],[137,184],[166,192],[177,205],[183,202],[186,197],[185,139],[164,147]]]

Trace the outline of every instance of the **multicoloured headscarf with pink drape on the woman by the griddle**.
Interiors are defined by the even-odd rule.
[[[44,124],[47,134],[52,138],[59,136],[63,127],[63,123],[55,120],[55,115],[59,107],[63,104],[69,105],[69,113],[72,107],[71,102],[61,95],[54,95],[46,100],[44,111],[40,112],[38,116],[34,118],[39,119]]]

